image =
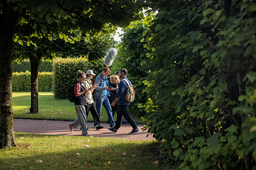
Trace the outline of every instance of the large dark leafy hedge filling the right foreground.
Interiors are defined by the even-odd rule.
[[[147,1],[149,132],[182,170],[256,170],[255,1]]]

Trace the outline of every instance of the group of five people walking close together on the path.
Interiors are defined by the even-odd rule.
[[[95,84],[92,84],[91,79],[95,74],[92,70],[88,70],[86,73],[82,71],[77,72],[77,81],[74,85],[75,90],[75,111],[77,118],[71,124],[69,124],[69,129],[73,132],[73,128],[76,129],[80,125],[82,134],[85,136],[90,136],[87,128],[87,117],[89,111],[94,119],[94,127],[99,130],[104,128],[101,126],[101,106],[103,105],[107,111],[107,117],[110,128],[107,128],[112,133],[117,133],[117,130],[121,127],[123,118],[125,118],[128,123],[133,127],[133,130],[128,134],[137,134],[139,129],[136,123],[128,112],[128,105],[130,104],[124,96],[128,90],[131,82],[126,77],[128,74],[127,69],[122,68],[116,73],[115,77],[121,81],[117,83],[111,83],[108,81],[107,76],[111,74],[109,67],[104,67],[102,72],[96,77]],[[118,85],[119,82],[119,85]],[[112,87],[115,84],[115,87]],[[95,89],[95,101],[94,104],[92,92]],[[112,93],[111,93],[112,92]],[[113,93],[114,92],[114,93]],[[116,93],[116,94],[115,94]],[[114,97],[115,96],[115,97]],[[110,100],[111,101],[110,101]],[[115,123],[113,119],[113,113],[117,112],[117,121]]]

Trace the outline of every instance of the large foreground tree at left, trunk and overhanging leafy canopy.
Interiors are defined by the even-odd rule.
[[[0,148],[16,145],[12,129],[12,41],[19,37],[59,35],[73,43],[80,35],[113,32],[139,19],[140,0],[0,1]],[[72,37],[69,33],[74,33]]]

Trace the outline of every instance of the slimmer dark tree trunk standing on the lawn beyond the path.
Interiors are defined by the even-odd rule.
[[[38,113],[38,68],[42,54],[37,54],[37,57],[29,57],[31,65],[31,107],[29,111],[31,113]]]

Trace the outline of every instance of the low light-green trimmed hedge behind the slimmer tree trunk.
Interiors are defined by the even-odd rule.
[[[31,72],[14,72],[12,74],[13,92],[31,91]],[[38,92],[49,92],[52,89],[53,72],[38,72]]]

